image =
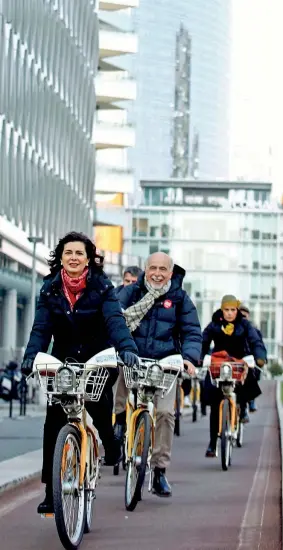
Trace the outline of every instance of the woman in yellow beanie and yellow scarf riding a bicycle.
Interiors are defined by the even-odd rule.
[[[202,357],[209,353],[213,342],[213,352],[225,351],[237,359],[251,353],[256,363],[262,366],[265,362],[265,348],[253,325],[239,311],[240,303],[232,294],[223,296],[221,308],[213,314],[211,323],[203,331]],[[254,373],[249,369],[246,381],[238,394],[242,422],[249,422],[248,401],[260,394],[261,390]],[[219,403],[222,395],[221,391],[212,385],[209,376],[205,381],[205,395],[207,403],[211,405],[210,442],[206,456],[213,457],[216,455]]]

